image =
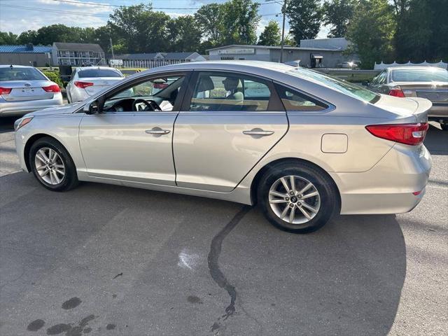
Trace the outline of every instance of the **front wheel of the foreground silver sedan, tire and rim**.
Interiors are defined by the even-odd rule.
[[[55,139],[38,139],[29,151],[29,164],[36,179],[49,190],[66,191],[78,185],[73,160]]]

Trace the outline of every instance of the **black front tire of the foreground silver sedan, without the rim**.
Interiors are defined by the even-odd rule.
[[[43,178],[37,172],[35,162],[36,153],[42,148],[51,148],[52,151],[55,151],[57,155],[59,155],[59,158],[61,158],[62,162],[64,163],[65,175],[64,177],[62,177],[62,180],[57,184],[50,184],[44,181]],[[48,190],[67,191],[78,186],[79,182],[78,182],[78,175],[76,174],[75,164],[73,163],[73,160],[71,160],[69,152],[66,151],[64,146],[62,146],[62,144],[60,144],[59,141],[50,137],[43,137],[41,139],[38,139],[36,142],[34,142],[34,144],[31,145],[28,160],[29,160],[29,166],[31,167],[31,172],[33,172],[37,181],[39,181],[39,183],[41,183],[42,186],[44,186]]]

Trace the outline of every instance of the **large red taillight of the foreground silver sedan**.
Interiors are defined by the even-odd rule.
[[[375,137],[416,146],[423,142],[428,131],[428,123],[368,125],[365,128]]]

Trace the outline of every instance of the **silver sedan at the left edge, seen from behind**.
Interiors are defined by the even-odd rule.
[[[33,66],[0,65],[0,117],[62,105],[59,85]]]

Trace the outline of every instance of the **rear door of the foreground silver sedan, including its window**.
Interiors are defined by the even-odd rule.
[[[176,184],[230,192],[287,130],[271,80],[194,71],[174,125]]]

